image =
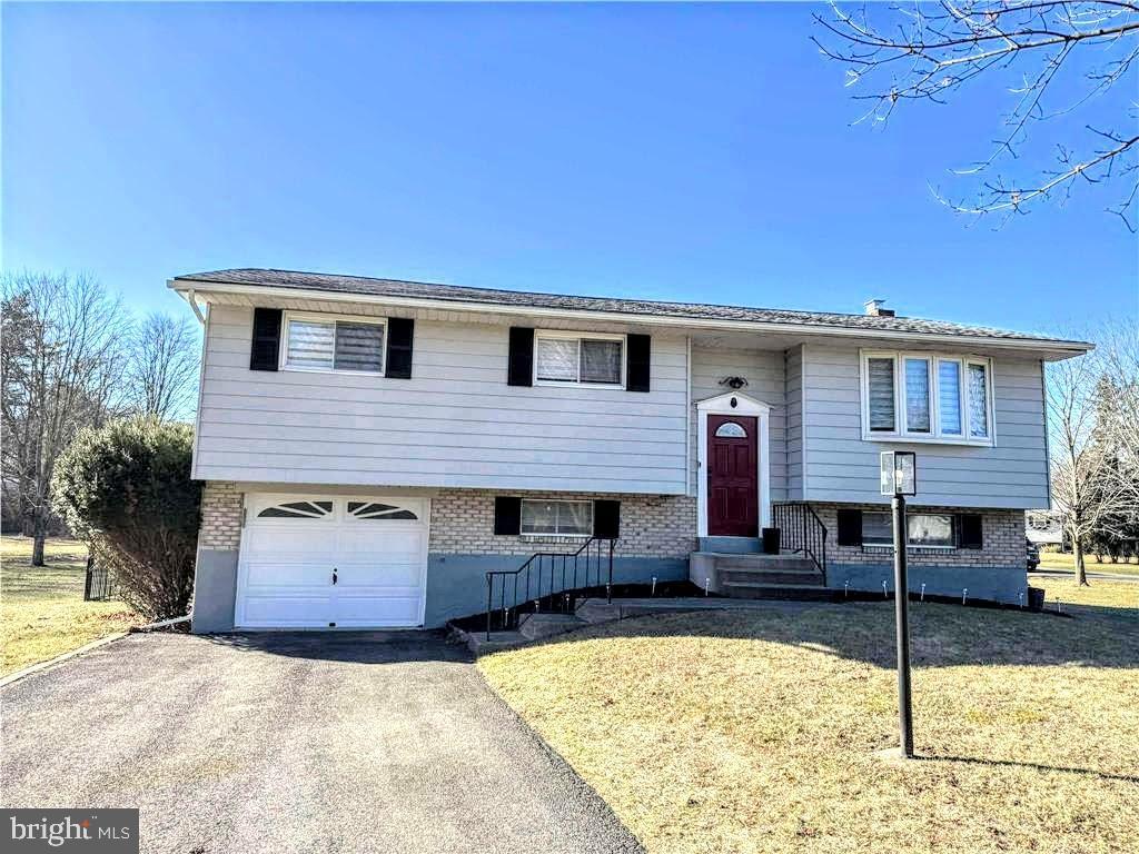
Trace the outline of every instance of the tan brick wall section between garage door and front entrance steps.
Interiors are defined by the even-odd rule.
[[[567,551],[574,537],[497,536],[491,490],[441,490],[432,499],[433,555],[531,555],[549,549]],[[687,558],[696,548],[696,500],[687,495],[598,495],[589,492],[511,492],[534,499],[621,501],[622,557]]]

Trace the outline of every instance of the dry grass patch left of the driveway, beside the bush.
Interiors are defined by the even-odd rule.
[[[30,565],[32,541],[0,537],[0,675],[121,632],[136,617],[122,602],[84,602],[85,547],[52,540],[47,566]]]

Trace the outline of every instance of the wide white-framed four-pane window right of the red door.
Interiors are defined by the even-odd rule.
[[[993,443],[989,359],[862,351],[861,384],[863,440]]]

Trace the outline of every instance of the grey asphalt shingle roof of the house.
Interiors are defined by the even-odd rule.
[[[760,323],[787,323],[802,327],[867,329],[906,334],[953,335],[977,338],[1007,338],[1058,343],[1057,339],[1007,329],[983,326],[948,323],[920,318],[875,317],[869,314],[841,314],[836,312],[793,311],[789,309],[752,309],[734,305],[699,303],[667,303],[649,299],[615,299],[595,296],[535,294],[493,288],[470,288],[458,285],[436,285],[399,279],[372,279],[362,276],[305,273],[289,270],[236,269],[179,276],[175,282],[210,282],[221,285],[295,288],[308,291],[363,294],[369,296],[415,297],[441,302],[477,303],[485,305],[526,306],[565,311],[612,312],[641,314],[646,318],[691,318],[702,320],[732,320]]]

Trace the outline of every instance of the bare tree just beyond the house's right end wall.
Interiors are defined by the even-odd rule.
[[[1115,460],[1103,441],[1103,379],[1100,353],[1055,362],[1048,369],[1052,502],[1072,540],[1080,584],[1088,583],[1089,540],[1126,507],[1114,476]]]

